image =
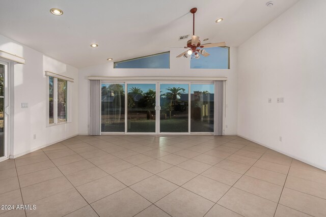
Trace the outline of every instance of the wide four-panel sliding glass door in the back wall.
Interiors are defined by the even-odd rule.
[[[102,82],[102,133],[213,133],[214,84]]]

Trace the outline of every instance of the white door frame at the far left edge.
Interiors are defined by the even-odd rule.
[[[10,114],[10,107],[9,107],[9,67],[10,64],[7,61],[0,60],[0,64],[5,66],[5,72],[4,72],[4,132],[3,132],[3,138],[4,138],[4,156],[0,157],[0,161],[4,161],[9,158],[9,114]]]

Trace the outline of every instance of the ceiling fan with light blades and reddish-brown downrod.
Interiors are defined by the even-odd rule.
[[[183,53],[180,53],[176,57],[195,57],[198,59],[200,57],[199,54],[203,56],[208,56],[209,53],[207,53],[204,49],[200,48],[209,48],[209,47],[223,47],[225,46],[225,42],[220,42],[220,43],[210,43],[210,44],[200,44],[200,40],[198,36],[195,36],[195,13],[197,12],[197,8],[192,8],[190,10],[190,13],[193,14],[193,36],[192,39],[187,41],[187,46],[184,48],[188,48],[188,50],[184,51]]]

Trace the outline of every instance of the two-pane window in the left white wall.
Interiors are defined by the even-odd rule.
[[[48,126],[70,122],[68,121],[69,83],[67,80],[48,76]]]

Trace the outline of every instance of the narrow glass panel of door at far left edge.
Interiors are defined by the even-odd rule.
[[[0,157],[5,156],[4,109],[5,108],[5,66],[0,64]]]

